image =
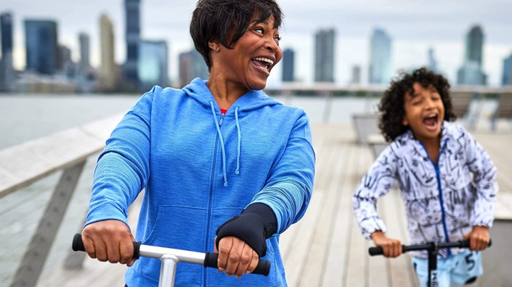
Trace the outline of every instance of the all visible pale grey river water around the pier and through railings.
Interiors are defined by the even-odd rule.
[[[0,150],[58,131],[127,111],[140,95],[5,95],[0,94]],[[374,98],[276,97],[303,108],[311,122],[349,123],[354,113],[375,111]],[[476,110],[472,105],[472,110]],[[494,106],[493,106],[494,105]],[[482,110],[495,108],[484,103]],[[72,235],[81,229],[88,208],[92,173],[97,155],[91,156],[68,206],[45,272],[62,262]],[[2,164],[0,162],[0,164]],[[8,285],[30,242],[60,172],[0,199],[0,285]]]

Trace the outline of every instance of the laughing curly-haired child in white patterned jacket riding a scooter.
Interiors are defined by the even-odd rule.
[[[386,225],[376,210],[377,199],[396,180],[410,244],[470,240],[470,250],[439,251],[439,286],[474,281],[483,272],[479,251],[489,243],[497,171],[473,136],[453,123],[450,84],[426,68],[402,73],[385,91],[379,112],[379,129],[391,143],[353,194],[362,234],[381,246],[386,257],[402,253],[401,242],[386,236]],[[426,286],[426,251],[412,255],[420,286]]]

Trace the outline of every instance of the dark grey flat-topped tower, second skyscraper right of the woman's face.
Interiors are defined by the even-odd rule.
[[[315,82],[334,82],[334,29],[315,34]]]

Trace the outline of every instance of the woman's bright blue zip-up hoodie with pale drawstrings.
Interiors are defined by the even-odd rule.
[[[213,252],[216,229],[249,204],[274,212],[278,233],[302,218],[311,198],[314,152],[309,120],[252,90],[221,115],[206,86],[154,87],[124,116],[101,153],[87,224],[126,223],[145,188],[136,240]],[[286,286],[278,236],[267,240],[268,277],[226,276],[178,264],[176,286]],[[157,286],[160,260],[141,257],[126,272],[130,287]]]

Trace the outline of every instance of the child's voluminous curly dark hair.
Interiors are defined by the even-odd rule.
[[[453,122],[457,118],[452,111],[450,83],[446,78],[425,67],[416,69],[410,74],[402,72],[391,81],[390,87],[384,92],[378,105],[380,113],[378,126],[388,142],[410,129],[409,126],[402,125],[405,114],[403,105],[406,94],[414,93],[414,83],[419,83],[425,88],[433,85],[441,95],[444,119]]]

